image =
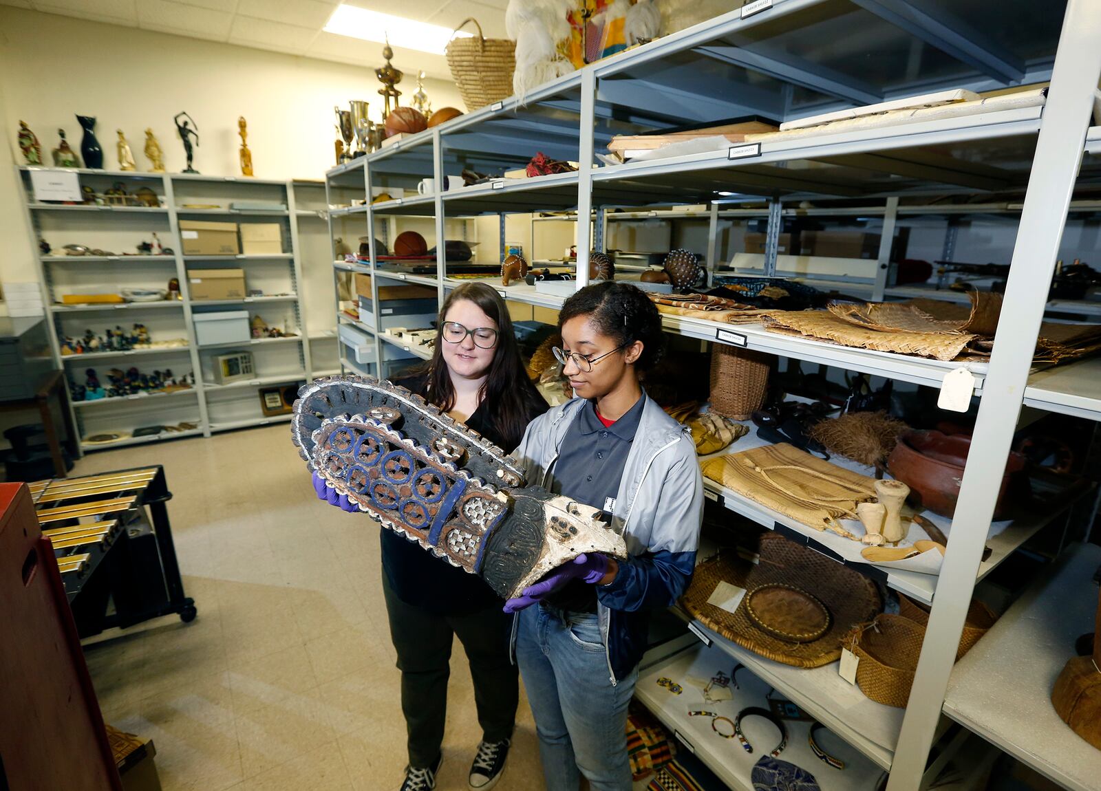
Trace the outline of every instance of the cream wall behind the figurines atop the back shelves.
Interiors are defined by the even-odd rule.
[[[231,176],[240,173],[237,118],[244,116],[258,177],[321,178],[333,165],[334,105],[364,99],[378,119],[378,88],[367,68],[0,6],[0,283],[36,279],[14,173],[23,164],[21,119],[48,162],[56,130],[65,129],[79,151],[74,113],[95,116],[112,169],[115,130],[126,132],[144,169],[143,130],[152,127],[167,169],[179,172],[184,152],[172,118],[186,110],[199,127],[195,167]],[[425,80],[425,91],[433,107],[462,107],[451,83]]]

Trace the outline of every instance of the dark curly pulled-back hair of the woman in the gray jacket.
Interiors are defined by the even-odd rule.
[[[634,363],[639,371],[653,367],[665,351],[662,315],[645,292],[629,283],[604,281],[571,294],[558,311],[558,331],[578,316],[589,321],[615,345],[642,342],[642,354]]]

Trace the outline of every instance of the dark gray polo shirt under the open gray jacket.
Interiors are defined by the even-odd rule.
[[[643,394],[623,417],[608,427],[597,417],[595,402],[581,407],[577,418],[566,429],[562,452],[550,469],[550,491],[615,514],[620,480],[645,404],[646,396]],[[571,612],[597,612],[596,589],[579,580],[571,580],[546,601]]]

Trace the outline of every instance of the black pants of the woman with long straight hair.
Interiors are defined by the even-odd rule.
[[[451,642],[462,642],[475,684],[482,738],[512,736],[520,702],[519,671],[509,661],[512,616],[493,605],[471,615],[443,616],[401,601],[382,572],[390,637],[402,671],[402,712],[408,732],[410,766],[430,767],[439,756],[447,714]]]

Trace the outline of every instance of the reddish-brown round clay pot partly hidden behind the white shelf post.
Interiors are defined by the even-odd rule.
[[[963,464],[970,450],[971,438],[966,435],[949,437],[940,431],[907,431],[898,438],[898,444],[887,458],[887,470],[909,486],[912,505],[950,517],[956,513]],[[1011,452],[994,506],[995,519],[1003,516],[1010,479],[1021,473],[1024,466],[1025,458]]]

